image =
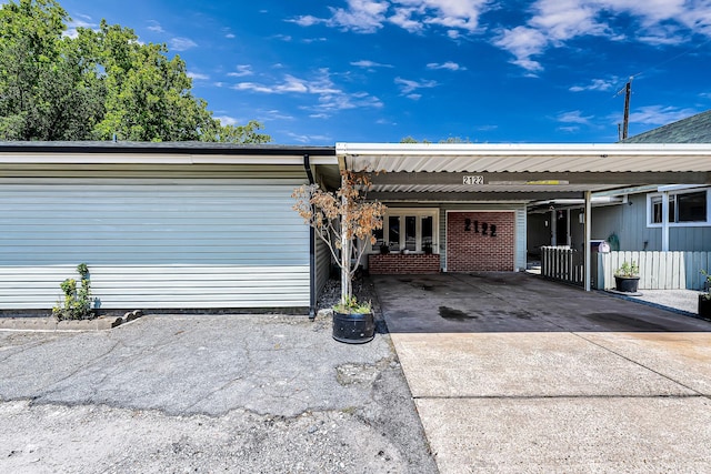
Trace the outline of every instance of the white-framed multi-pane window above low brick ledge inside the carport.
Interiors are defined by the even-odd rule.
[[[373,252],[385,245],[390,252],[437,253],[437,209],[389,209],[382,230],[373,232]]]

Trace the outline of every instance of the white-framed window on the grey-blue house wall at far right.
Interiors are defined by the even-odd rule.
[[[647,222],[649,226],[711,225],[711,190],[684,190],[669,193],[669,211],[663,213],[663,194],[647,196]]]

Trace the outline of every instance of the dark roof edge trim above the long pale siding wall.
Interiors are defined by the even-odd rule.
[[[336,147],[232,144],[211,142],[40,142],[0,141],[0,153],[176,153],[228,155],[334,157]]]

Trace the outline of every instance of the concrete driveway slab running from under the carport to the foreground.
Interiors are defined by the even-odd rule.
[[[523,273],[373,280],[441,473],[711,472],[711,323]]]

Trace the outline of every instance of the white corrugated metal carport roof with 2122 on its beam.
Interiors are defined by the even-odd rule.
[[[711,144],[337,143],[380,200],[531,201],[640,185],[711,184]],[[473,195],[472,195],[473,194]]]

